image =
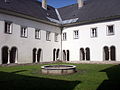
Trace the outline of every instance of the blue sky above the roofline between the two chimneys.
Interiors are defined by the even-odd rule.
[[[55,8],[60,8],[67,5],[75,4],[77,3],[77,0],[47,0],[47,3],[48,5],[53,6]]]

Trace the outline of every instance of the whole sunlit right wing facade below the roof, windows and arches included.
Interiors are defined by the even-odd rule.
[[[70,61],[119,61],[119,25],[120,20],[115,20],[64,28],[62,49],[69,50]]]

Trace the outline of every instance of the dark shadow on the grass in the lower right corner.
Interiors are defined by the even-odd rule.
[[[100,72],[106,72],[108,80],[104,80],[97,90],[120,90],[120,65],[115,65]]]

